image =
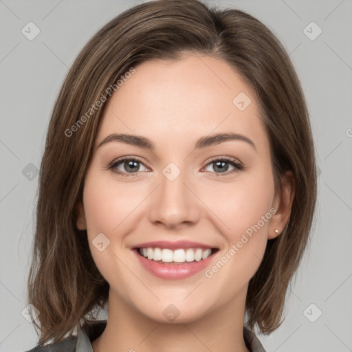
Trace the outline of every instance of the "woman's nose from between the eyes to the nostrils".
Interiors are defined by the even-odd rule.
[[[194,225],[199,221],[200,201],[192,190],[186,173],[181,172],[173,181],[161,176],[161,184],[151,199],[149,218],[152,223],[167,228]]]

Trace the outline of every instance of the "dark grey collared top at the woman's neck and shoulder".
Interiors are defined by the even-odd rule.
[[[107,326],[107,320],[92,321],[90,325],[83,325],[77,336],[71,336],[45,346],[37,346],[26,352],[94,352],[91,342],[96,340]],[[255,334],[243,327],[243,338],[250,352],[265,352],[265,349]]]

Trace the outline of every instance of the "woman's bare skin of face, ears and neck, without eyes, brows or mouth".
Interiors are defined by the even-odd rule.
[[[77,206],[77,227],[87,229],[91,254],[110,285],[107,327],[92,347],[94,352],[248,352],[243,339],[248,283],[267,241],[287,222],[292,175],[275,194],[259,102],[228,63],[188,53],[135,69],[104,108],[83,203]],[[232,103],[240,92],[252,100],[244,111]],[[194,149],[199,137],[228,132],[250,138],[256,149],[239,140]],[[97,148],[111,133],[148,137],[155,150],[122,142]],[[125,156],[142,159],[134,173],[123,162],[116,167],[131,177],[107,169]],[[225,164],[228,170],[221,173],[210,163],[214,157],[233,157],[245,168]],[[162,173],[170,162],[181,171],[174,181]],[[212,267],[270,208],[276,214],[212,278],[203,270],[181,280],[157,278],[131,250],[146,241],[197,241],[219,248]],[[101,232],[110,241],[102,252],[91,242]],[[170,304],[180,312],[173,322],[163,314]]]

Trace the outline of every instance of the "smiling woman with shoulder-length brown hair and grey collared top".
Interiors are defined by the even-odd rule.
[[[307,107],[274,34],[197,0],[126,10],[50,120],[31,351],[265,351],[254,327],[281,325],[315,203]]]

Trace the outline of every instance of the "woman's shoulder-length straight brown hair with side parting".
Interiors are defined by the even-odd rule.
[[[54,105],[47,131],[36,207],[28,302],[40,311],[39,344],[80,329],[92,309],[107,302],[109,284],[98,271],[87,232],[76,228],[75,206],[83,198],[100,109],[92,104],[131,67],[184,52],[229,63],[254,90],[270,138],[276,191],[292,170],[295,197],[287,225],[267,248],[251,278],[247,327],[274,331],[282,321],[285,294],[309,239],[316,203],[316,164],[309,116],[294,67],[276,36],[240,10],[209,8],[197,0],[150,1],[104,25],[80,52]],[[78,125],[78,118],[89,118]],[[82,119],[81,119],[82,121]],[[79,128],[67,136],[67,129]]]

